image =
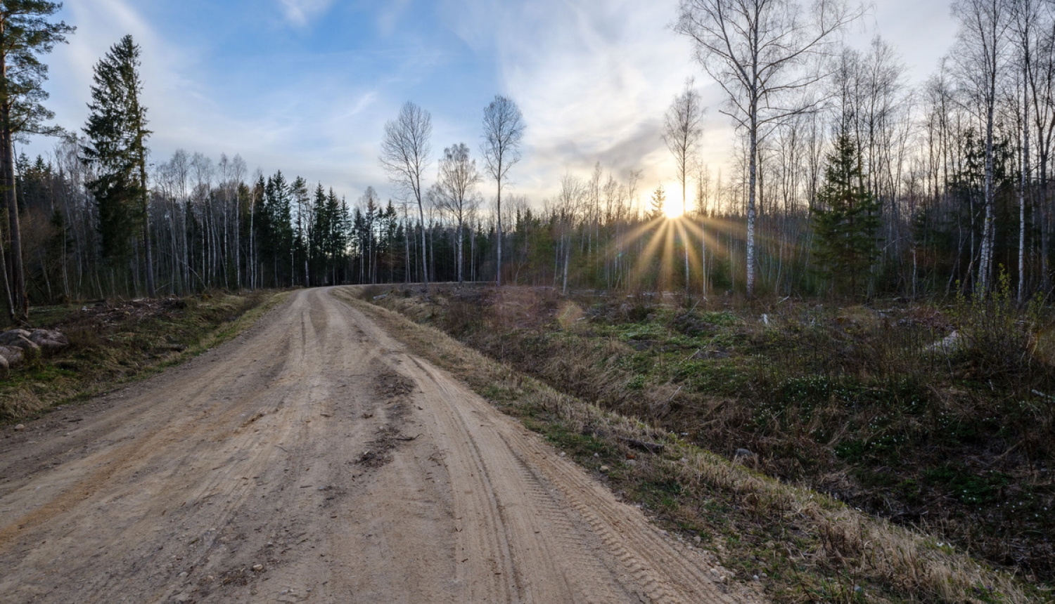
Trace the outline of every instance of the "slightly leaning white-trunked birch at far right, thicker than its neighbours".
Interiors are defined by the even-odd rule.
[[[958,0],[953,13],[960,19],[958,47],[953,56],[960,67],[960,78],[971,91],[972,100],[984,112],[985,190],[981,252],[978,259],[978,291],[989,293],[993,274],[994,197],[993,114],[997,103],[997,80],[1009,66],[1011,9],[1005,0]]]

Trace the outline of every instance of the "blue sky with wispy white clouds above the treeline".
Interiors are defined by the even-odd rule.
[[[45,58],[46,105],[79,132],[93,65],[131,34],[152,162],[177,149],[238,154],[251,172],[303,176],[349,201],[368,186],[396,197],[378,155],[405,101],[430,112],[435,157],[458,142],[479,157],[483,108],[500,94],[526,124],[511,193],[537,204],[564,173],[588,176],[598,161],[670,191],[659,131],[687,78],[709,108],[702,155],[712,169],[727,165],[736,136],[718,112],[722,91],[671,30],[676,11],[677,0],[65,0],[57,18],[77,32]],[[877,34],[920,82],[955,23],[947,0],[877,0],[846,38],[863,48]],[[19,151],[53,147],[37,138]],[[434,161],[429,179],[435,171]]]

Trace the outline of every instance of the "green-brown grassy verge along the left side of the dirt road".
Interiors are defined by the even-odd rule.
[[[183,363],[234,337],[284,298],[251,292],[41,309],[34,327],[62,331],[70,347],[0,370],[0,422],[32,418]]]

